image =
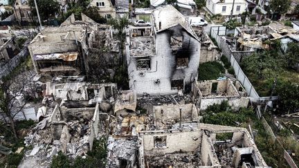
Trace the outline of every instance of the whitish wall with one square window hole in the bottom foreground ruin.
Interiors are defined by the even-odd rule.
[[[154,147],[154,136],[167,136],[166,147]],[[195,151],[201,145],[200,131],[184,131],[172,133],[155,133],[143,135],[143,147],[146,155],[159,155],[176,151]]]

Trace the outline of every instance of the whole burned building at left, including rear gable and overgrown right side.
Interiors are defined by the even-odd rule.
[[[28,49],[37,73],[47,79],[58,75],[89,77],[95,71],[102,75],[102,67],[107,67],[105,75],[114,74],[110,69],[118,60],[115,53],[119,45],[113,40],[111,26],[99,25],[84,14],[81,17],[78,21],[71,15],[60,28],[45,28],[31,41]],[[102,64],[91,64],[98,62]]]

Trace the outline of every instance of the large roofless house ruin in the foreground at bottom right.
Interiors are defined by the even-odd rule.
[[[196,129],[140,135],[140,167],[268,167],[244,128],[199,124]]]

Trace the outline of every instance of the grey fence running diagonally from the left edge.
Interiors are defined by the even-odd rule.
[[[12,59],[10,59],[8,63],[1,66],[0,79],[8,75],[10,72],[12,72],[12,70],[14,70],[21,63],[22,60],[26,59],[27,55],[28,55],[28,48],[25,47],[23,50],[21,50],[21,52],[18,55],[12,57]]]

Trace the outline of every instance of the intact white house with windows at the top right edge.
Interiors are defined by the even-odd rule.
[[[234,3],[235,2],[235,3]],[[234,7],[233,7],[234,3]],[[207,0],[206,8],[212,13],[212,15],[229,16],[233,8],[233,16],[241,15],[246,11],[246,0]]]

